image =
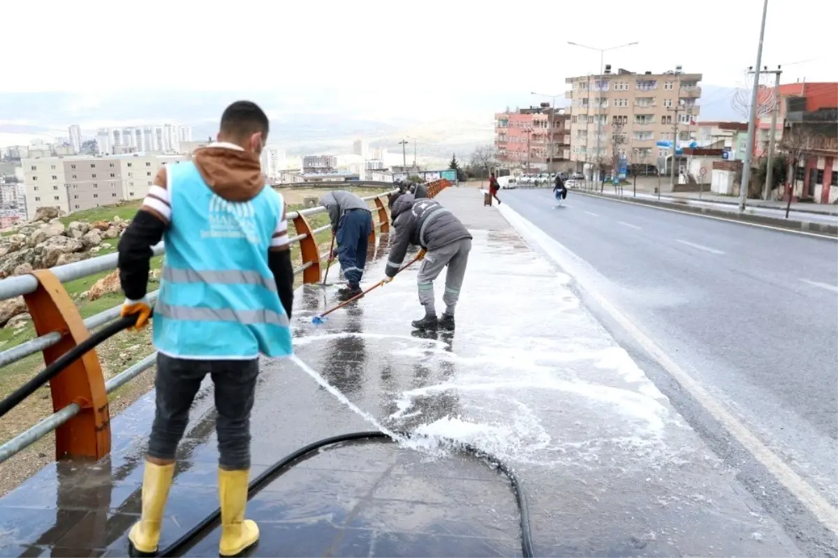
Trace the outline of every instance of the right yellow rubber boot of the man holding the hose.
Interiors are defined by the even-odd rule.
[[[247,482],[250,471],[218,470],[218,498],[221,503],[221,541],[218,553],[228,558],[241,556],[259,540],[259,527],[245,519]]]

